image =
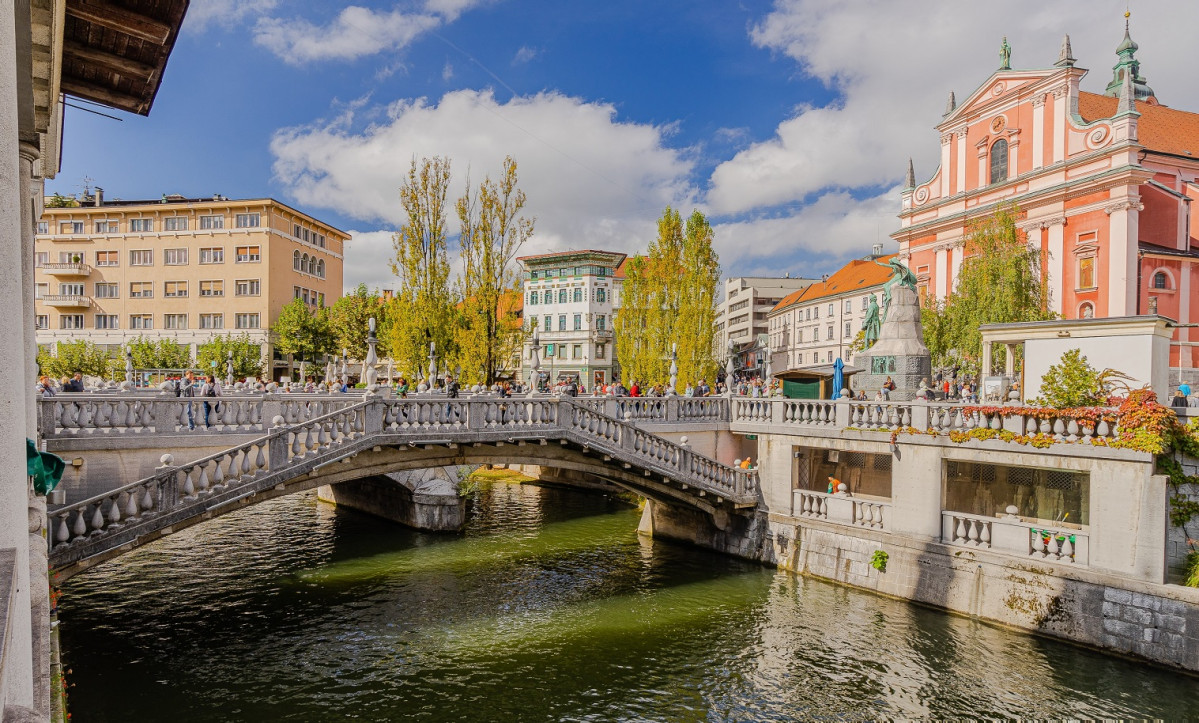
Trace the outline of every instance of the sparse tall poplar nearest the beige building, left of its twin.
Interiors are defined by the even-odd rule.
[[[446,252],[446,192],[450,161],[416,158],[400,186],[406,222],[392,236],[399,291],[391,319],[388,344],[402,369],[427,368],[429,342],[439,359],[454,359],[454,296],[450,289]]]

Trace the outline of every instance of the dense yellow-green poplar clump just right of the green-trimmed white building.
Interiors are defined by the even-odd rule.
[[[621,308],[613,324],[626,384],[665,381],[671,344],[679,344],[679,385],[715,379],[716,285],[713,233],[699,211],[686,225],[667,206],[645,257],[625,267]]]

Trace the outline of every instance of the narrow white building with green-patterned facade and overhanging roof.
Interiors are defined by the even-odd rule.
[[[620,308],[626,255],[566,251],[517,259],[524,265],[524,318],[541,341],[541,370],[550,384],[574,379],[591,388],[619,378],[611,320]],[[529,379],[532,342],[520,378]]]

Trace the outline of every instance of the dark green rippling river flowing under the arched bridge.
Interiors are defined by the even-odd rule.
[[[313,494],[67,582],[90,721],[1181,719],[1194,680],[637,535],[597,493],[483,482],[462,536]]]

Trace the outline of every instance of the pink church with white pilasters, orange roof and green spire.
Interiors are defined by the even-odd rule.
[[[940,167],[920,185],[909,169],[892,234],[922,293],[951,294],[969,224],[1014,203],[1060,317],[1199,321],[1199,114],[1157,101],[1135,49],[1126,31],[1104,95],[1079,90],[1067,37],[1054,66],[951,96]],[[1195,344],[1199,330],[1176,329],[1170,366],[1199,366]]]

